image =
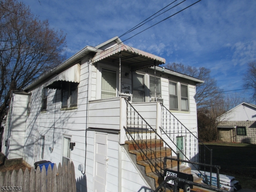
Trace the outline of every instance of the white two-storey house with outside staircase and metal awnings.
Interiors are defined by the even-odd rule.
[[[2,152],[30,165],[73,161],[77,191],[155,188],[156,173],[148,176],[138,168],[144,165],[136,164],[127,143],[132,137],[150,142],[162,137],[160,154],[168,144],[173,155],[177,151],[186,156],[181,158],[198,161],[195,94],[196,84],[203,83],[157,66],[163,63],[165,59],[124,45],[118,37],[84,47],[22,92],[12,92]],[[139,121],[148,124],[134,128],[137,121],[138,126]],[[173,142],[163,145],[169,137]],[[79,164],[85,166],[85,175]]]

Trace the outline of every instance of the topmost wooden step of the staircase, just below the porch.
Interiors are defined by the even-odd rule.
[[[164,146],[164,142],[163,140],[160,139],[144,139],[144,140],[130,140],[130,141],[125,141],[125,144],[128,144],[128,150],[136,150],[139,149],[138,145],[140,146],[140,148],[142,149],[146,149],[146,148],[155,148],[155,147],[163,147]]]

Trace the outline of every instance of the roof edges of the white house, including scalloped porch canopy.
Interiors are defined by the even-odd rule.
[[[111,45],[110,48],[109,48],[109,45]],[[60,64],[56,68],[53,68],[52,70],[49,70],[44,74],[40,75],[35,81],[33,81],[31,84],[25,87],[23,91],[27,91],[31,89],[32,87],[44,82],[47,78],[51,76],[54,77],[59,75],[61,72],[75,65],[82,58],[84,58],[86,55],[89,55],[89,54],[94,54],[92,58],[93,63],[104,59],[104,61],[109,61],[111,64],[119,65],[119,52],[121,52],[122,64],[129,65],[132,71],[152,67],[154,66],[155,62],[156,62],[156,65],[165,63],[164,58],[161,58],[159,56],[153,55],[148,52],[141,51],[139,49],[130,47],[128,45],[124,45],[122,41],[116,36],[100,45],[97,45],[96,47],[92,47],[92,46],[84,47],[82,50],[77,52],[75,55],[73,55],[72,57],[64,61],[62,64]],[[175,76],[180,76],[186,79],[190,79],[197,83],[204,82],[194,77],[180,74],[171,70],[166,70],[165,72]]]

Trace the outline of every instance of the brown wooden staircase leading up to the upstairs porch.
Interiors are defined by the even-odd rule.
[[[157,188],[164,181],[164,157],[172,156],[172,149],[164,147],[164,142],[161,139],[127,140],[125,144],[128,145],[129,153],[136,156],[136,163],[145,167],[146,176],[155,180],[154,184]],[[166,168],[174,171],[177,171],[177,165],[177,161],[168,159],[166,161]],[[180,162],[180,172],[191,174],[190,170],[190,167],[182,166]],[[202,178],[194,178],[194,182],[200,183],[201,180]],[[170,189],[167,188],[166,191],[170,191]]]

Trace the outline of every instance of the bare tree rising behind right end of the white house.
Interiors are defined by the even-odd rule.
[[[196,85],[196,105],[197,108],[211,107],[212,99],[222,97],[219,93],[221,90],[217,86],[217,82],[211,77],[211,70],[204,67],[185,66],[182,63],[168,63],[166,68],[183,73],[185,75],[196,77],[204,81],[202,84]]]

